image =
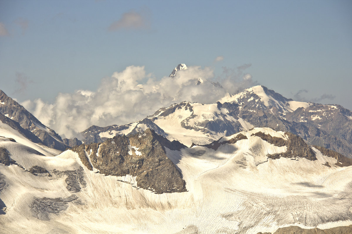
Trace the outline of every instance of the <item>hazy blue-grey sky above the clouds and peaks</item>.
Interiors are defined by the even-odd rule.
[[[0,89],[19,102],[95,92],[132,65],[156,82],[179,63],[352,109],[352,1],[0,0]]]

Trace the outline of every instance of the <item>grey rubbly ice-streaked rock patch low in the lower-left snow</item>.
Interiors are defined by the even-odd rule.
[[[68,203],[78,197],[71,195],[67,198],[36,198],[30,205],[32,216],[40,220],[50,220],[49,213],[59,213],[68,208]]]

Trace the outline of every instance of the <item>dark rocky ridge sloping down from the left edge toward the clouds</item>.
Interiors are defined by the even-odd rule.
[[[12,98],[7,96],[0,90],[0,102],[4,103],[0,105],[0,112],[3,115],[8,116],[10,119],[19,123],[20,127],[26,129],[24,134],[32,136],[29,132],[37,136],[44,145],[51,148],[65,150],[67,145],[62,142],[61,137],[52,129],[44,126],[36,117],[29,113],[23,106],[19,105]],[[8,120],[7,120],[8,121]],[[16,126],[19,128],[18,126]],[[22,130],[22,129],[21,129]],[[33,136],[32,136],[33,138]],[[29,138],[34,140],[35,138]],[[35,140],[34,140],[35,141]],[[37,143],[37,142],[36,142]]]

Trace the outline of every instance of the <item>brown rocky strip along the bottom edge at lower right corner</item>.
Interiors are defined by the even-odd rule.
[[[279,228],[273,234],[351,234],[352,233],[352,225],[350,226],[341,226],[341,227],[334,227],[329,229],[319,229],[319,228],[312,228],[312,229],[303,229],[297,226],[290,226]],[[258,234],[271,234],[269,232]]]

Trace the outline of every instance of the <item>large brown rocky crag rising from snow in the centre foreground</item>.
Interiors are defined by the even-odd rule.
[[[105,175],[136,176],[138,187],[155,193],[185,192],[186,182],[166,156],[165,147],[180,150],[180,142],[163,138],[151,129],[130,137],[115,136],[101,144],[92,143],[74,147],[84,165]],[[86,154],[87,152],[87,154]]]

